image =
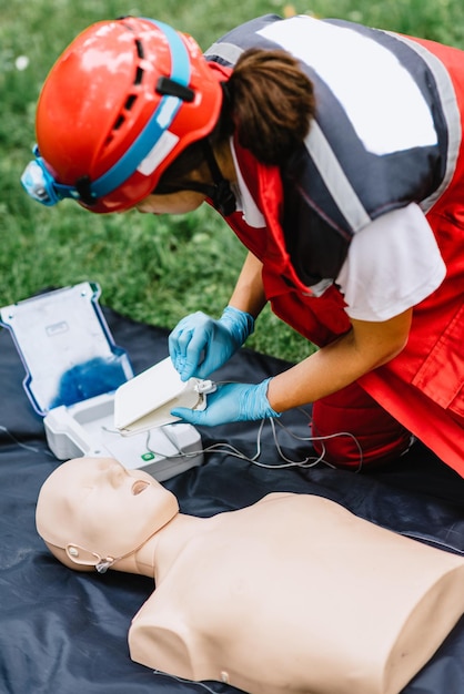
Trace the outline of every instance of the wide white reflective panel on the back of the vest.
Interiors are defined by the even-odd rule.
[[[369,152],[384,155],[437,143],[421,90],[397,58],[376,41],[303,16],[258,33],[317,72]]]

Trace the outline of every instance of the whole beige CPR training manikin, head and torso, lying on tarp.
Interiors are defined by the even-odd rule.
[[[462,558],[309,494],[194,518],[148,473],[79,458],[37,528],[70,568],[154,579],[132,660],[251,694],[397,694],[464,612]]]

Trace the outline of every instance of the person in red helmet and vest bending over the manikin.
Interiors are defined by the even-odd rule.
[[[222,385],[184,421],[312,402],[314,433],[350,431],[364,465],[417,437],[464,474],[463,113],[464,52],[432,41],[265,16],[203,54],[127,17],[89,27],[51,69],[22,181],[48,205],[206,201],[225,218],[249,255],[223,315],[173,330],[183,379],[222,366],[268,302],[319,346],[270,380]],[[326,460],[357,468],[349,441],[327,440]]]

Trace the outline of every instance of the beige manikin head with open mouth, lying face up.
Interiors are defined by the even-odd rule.
[[[174,494],[147,472],[127,470],[113,458],[75,458],[44,481],[36,523],[67,567],[103,572],[133,554],[178,512]]]

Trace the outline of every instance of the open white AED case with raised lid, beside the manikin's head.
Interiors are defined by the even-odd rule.
[[[85,282],[0,310],[26,368],[24,390],[43,417],[50,450],[59,460],[115,458],[158,481],[201,465],[201,437],[191,425],[157,426],[130,438],[115,428],[114,391],[133,378],[133,369],[114,344],[100,294],[98,284]],[[152,397],[155,402],[157,394]]]

